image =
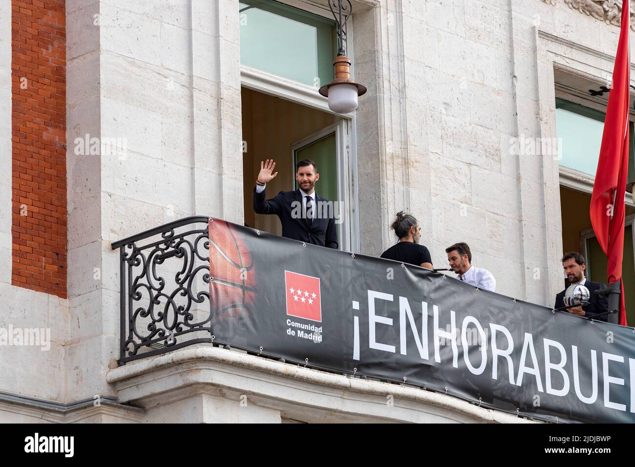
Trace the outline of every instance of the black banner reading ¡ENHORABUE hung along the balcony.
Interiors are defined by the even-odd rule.
[[[209,233],[215,342],[537,419],[635,421],[632,328],[220,219]]]

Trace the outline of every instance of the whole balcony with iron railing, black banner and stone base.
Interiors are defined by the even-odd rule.
[[[147,421],[631,421],[631,328],[220,219],[112,248]]]

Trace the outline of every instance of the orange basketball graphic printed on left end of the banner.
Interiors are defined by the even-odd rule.
[[[248,316],[255,299],[255,268],[241,233],[229,222],[210,217],[210,309],[212,323],[237,323]]]

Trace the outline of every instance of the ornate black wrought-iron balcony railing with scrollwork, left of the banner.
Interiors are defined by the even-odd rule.
[[[119,248],[119,365],[213,341],[208,218],[164,224],[112,243]]]

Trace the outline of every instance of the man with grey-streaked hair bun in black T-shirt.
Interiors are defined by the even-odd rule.
[[[399,241],[385,250],[382,258],[432,269],[430,252],[424,245],[418,244],[421,238],[421,227],[414,216],[403,211],[398,212],[391,229],[395,231]]]

